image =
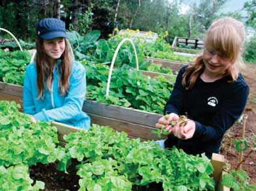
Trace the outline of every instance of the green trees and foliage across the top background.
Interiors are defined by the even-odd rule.
[[[57,3],[59,8],[57,9]],[[0,27],[13,32],[17,38],[25,42],[35,42],[36,23],[42,18],[57,17],[66,23],[69,31],[78,31],[84,36],[92,30],[99,30],[100,38],[108,38],[115,27],[118,29],[139,29],[161,34],[168,31],[165,37],[172,43],[175,36],[203,38],[205,30],[214,19],[231,16],[246,19],[246,25],[256,29],[256,0],[248,0],[244,4],[247,15],[240,12],[219,14],[227,0],[197,1],[190,10],[181,12],[182,0],[21,0],[0,2]],[[140,3],[140,4],[139,4]],[[115,10],[118,6],[117,19]],[[0,31],[1,38],[10,38],[6,32]],[[255,62],[255,45],[253,38],[246,51],[246,60]],[[255,41],[255,40],[254,40]]]

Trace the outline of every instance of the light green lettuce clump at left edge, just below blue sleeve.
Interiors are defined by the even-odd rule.
[[[57,128],[33,123],[18,107],[14,101],[0,101],[0,166],[55,162],[59,153]]]

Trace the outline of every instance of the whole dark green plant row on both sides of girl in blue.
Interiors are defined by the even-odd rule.
[[[0,50],[0,78],[4,83],[23,84],[25,65],[29,62],[28,52],[15,51],[5,53]],[[109,67],[105,64],[94,64],[82,60],[87,69],[87,99],[101,103],[111,103],[122,107],[132,107],[148,112],[162,114],[165,101],[173,89],[175,77],[168,81],[159,76],[149,79],[143,73],[135,71],[128,65],[113,71],[109,97],[106,98],[106,84]],[[160,65],[159,65],[160,66]],[[161,70],[157,64],[152,68]],[[171,73],[171,70],[165,70]]]

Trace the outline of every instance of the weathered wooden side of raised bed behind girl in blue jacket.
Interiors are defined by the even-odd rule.
[[[16,101],[23,108],[23,86],[0,82],[0,100]],[[130,137],[140,137],[142,140],[158,140],[152,134],[154,125],[160,114],[144,112],[133,108],[106,105],[96,101],[86,100],[83,111],[89,114],[92,123],[110,126],[117,131],[125,131]]]

